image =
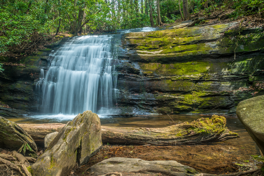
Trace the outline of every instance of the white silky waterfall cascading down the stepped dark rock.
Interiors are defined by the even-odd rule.
[[[111,38],[74,37],[54,52],[43,80],[42,113],[113,113],[117,77],[112,76]]]

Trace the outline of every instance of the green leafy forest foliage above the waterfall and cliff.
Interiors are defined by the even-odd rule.
[[[178,0],[159,2],[163,23],[180,19],[182,0],[181,7]],[[155,23],[156,0],[2,0],[0,55],[7,51],[19,55],[31,49],[40,39],[45,38],[46,34],[94,34],[150,26],[149,3],[152,5]],[[212,10],[227,8],[233,9],[231,17],[234,18],[252,14],[263,15],[264,0],[188,1],[191,15],[201,10],[207,13],[205,15],[210,15]]]

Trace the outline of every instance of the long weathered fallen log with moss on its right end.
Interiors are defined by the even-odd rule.
[[[184,145],[221,142],[239,137],[237,133],[230,132],[226,127],[226,119],[213,115],[211,119],[200,118],[191,123],[184,122],[165,128],[132,128],[107,127],[102,128],[102,142],[110,144],[129,145]],[[32,137],[42,137],[59,131],[64,124],[18,124]]]

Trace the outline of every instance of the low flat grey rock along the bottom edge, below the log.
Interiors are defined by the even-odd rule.
[[[109,172],[164,173],[166,175],[195,175],[198,172],[176,161],[145,161],[136,158],[110,158],[101,161],[88,169],[94,175]]]

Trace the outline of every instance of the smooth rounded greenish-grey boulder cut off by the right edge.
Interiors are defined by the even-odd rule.
[[[264,154],[264,96],[240,102],[237,117]]]

